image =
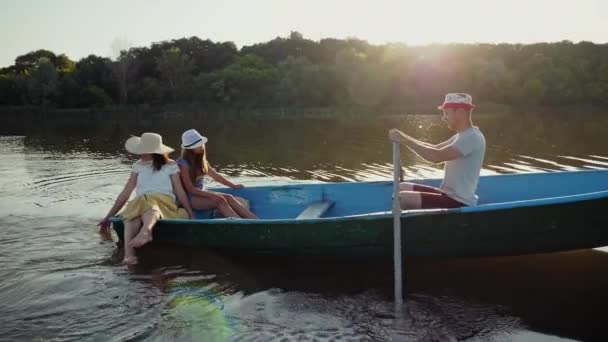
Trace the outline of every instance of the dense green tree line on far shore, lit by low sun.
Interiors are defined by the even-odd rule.
[[[38,50],[0,69],[0,105],[56,108],[195,103],[401,108],[449,91],[478,103],[608,104],[608,44],[372,45],[298,32],[244,46],[197,37],[73,61]]]

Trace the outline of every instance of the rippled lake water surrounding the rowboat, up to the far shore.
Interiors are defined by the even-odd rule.
[[[608,168],[598,116],[484,116],[484,174]],[[245,259],[156,247],[120,264],[95,223],[135,160],[130,134],[187,128],[245,186],[391,179],[387,130],[450,136],[439,116],[51,124],[0,136],[0,340],[604,341],[603,249],[467,260],[406,259],[406,314],[392,265]],[[3,131],[7,131],[6,129]],[[403,151],[406,178],[441,169]],[[491,227],[488,227],[491,229]],[[576,227],[573,227],[576,229]]]

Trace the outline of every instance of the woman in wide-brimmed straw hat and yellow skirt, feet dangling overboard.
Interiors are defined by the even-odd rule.
[[[158,220],[191,218],[192,208],[182,187],[179,167],[167,156],[174,150],[163,144],[160,135],[144,133],[141,137],[131,137],[125,143],[125,148],[141,155],[141,159],[133,164],[127,184],[99,226],[107,231],[108,219],[118,213],[136,190],[136,197],[120,213],[125,222],[124,262],[135,264],[137,257],[134,248],[152,241],[152,229]],[[176,196],[184,208],[178,208]]]

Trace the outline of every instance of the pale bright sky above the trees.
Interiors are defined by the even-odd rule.
[[[0,67],[198,36],[237,46],[299,31],[370,43],[608,41],[608,0],[2,0]]]

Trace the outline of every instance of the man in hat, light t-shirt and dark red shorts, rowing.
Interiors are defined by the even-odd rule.
[[[432,163],[445,163],[444,178],[439,188],[413,183],[400,184],[402,209],[457,208],[477,204],[477,183],[486,151],[486,140],[473,125],[473,99],[464,93],[450,93],[438,107],[443,121],[456,134],[432,145],[392,129],[389,138],[407,146]]]

